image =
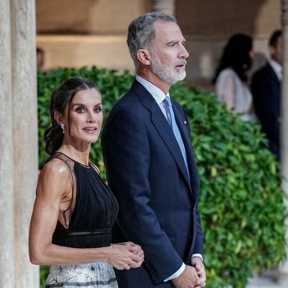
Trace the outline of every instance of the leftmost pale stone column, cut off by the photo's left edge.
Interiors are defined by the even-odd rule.
[[[0,287],[14,288],[10,0],[0,1]],[[9,273],[5,269],[9,269]]]

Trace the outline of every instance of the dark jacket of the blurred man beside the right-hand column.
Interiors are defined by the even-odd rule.
[[[254,73],[251,91],[262,131],[267,135],[270,150],[279,159],[281,83],[269,63]]]

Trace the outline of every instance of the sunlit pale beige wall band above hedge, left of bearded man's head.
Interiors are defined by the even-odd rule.
[[[134,71],[123,36],[38,35],[37,46],[45,50],[45,67],[109,68]]]

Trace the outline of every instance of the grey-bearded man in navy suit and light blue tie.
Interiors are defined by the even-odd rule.
[[[185,39],[174,17],[152,12],[132,21],[127,43],[137,77],[109,114],[102,149],[119,203],[113,237],[140,244],[145,259],[138,269],[116,270],[118,285],[204,287],[190,127],[179,103],[169,107],[170,86],[186,76]]]

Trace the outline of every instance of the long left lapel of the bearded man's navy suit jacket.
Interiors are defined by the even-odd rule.
[[[166,144],[168,147],[170,153],[175,159],[175,162],[177,163],[180,171],[182,172],[190,190],[191,190],[191,183],[189,181],[188,177],[188,172],[186,169],[186,165],[182,156],[182,152],[180,150],[180,147],[177,143],[177,140],[173,134],[173,131],[171,130],[165,116],[163,115],[161,109],[159,108],[158,104],[152,97],[152,95],[144,88],[143,85],[141,85],[137,80],[134,81],[132,85],[132,89],[134,92],[137,94],[139,97],[140,101],[142,102],[143,106],[148,109],[151,112],[151,121],[158,131],[159,135],[161,136],[163,142]],[[174,114],[175,114],[175,109],[174,109]],[[177,116],[176,116],[177,114]],[[178,113],[175,114],[175,120],[179,122],[179,116]],[[178,125],[177,122],[177,125]],[[180,130],[181,136],[184,134],[183,131]],[[183,136],[182,136],[183,137]],[[187,137],[185,137],[185,149],[187,151]],[[183,140],[184,142],[184,140]],[[189,153],[190,154],[190,153]]]

